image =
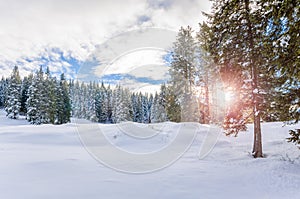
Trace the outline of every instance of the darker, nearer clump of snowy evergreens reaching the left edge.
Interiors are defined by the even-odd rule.
[[[44,73],[42,67],[21,79],[15,66],[11,76],[0,82],[0,106],[12,119],[25,115],[32,124],[67,123],[71,116],[69,85],[64,74],[57,80],[49,68]]]

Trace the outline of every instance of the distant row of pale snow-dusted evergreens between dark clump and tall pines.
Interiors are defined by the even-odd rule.
[[[120,85],[111,89],[103,83],[71,81],[72,116],[100,123],[164,122],[168,120],[164,88],[153,95],[132,93]]]

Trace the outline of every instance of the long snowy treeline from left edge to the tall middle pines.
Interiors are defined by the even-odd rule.
[[[120,85],[67,81],[64,74],[57,79],[42,67],[21,79],[15,66],[11,76],[0,81],[0,107],[7,117],[23,115],[32,124],[63,124],[71,117],[100,123],[164,122],[172,118],[174,108],[168,96],[164,84],[154,95],[132,93]]]

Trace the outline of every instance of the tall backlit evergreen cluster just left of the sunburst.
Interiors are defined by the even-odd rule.
[[[167,112],[175,122],[217,122],[214,110],[220,107],[212,90],[219,80],[218,71],[202,50],[201,34],[193,32],[190,26],[181,27],[173,45]]]

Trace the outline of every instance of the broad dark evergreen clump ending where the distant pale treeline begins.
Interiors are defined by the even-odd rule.
[[[31,77],[30,77],[31,79]],[[32,124],[64,124],[70,121],[69,85],[64,74],[59,81],[42,67],[32,77],[26,100],[27,120]]]

